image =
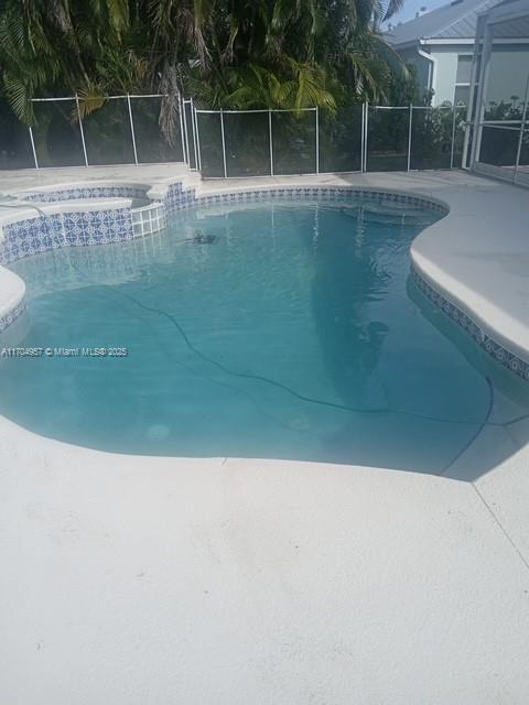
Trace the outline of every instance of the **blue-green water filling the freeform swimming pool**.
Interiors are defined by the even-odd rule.
[[[160,236],[20,261],[20,346],[127,356],[2,358],[0,412],[111,452],[443,471],[492,388],[410,283],[411,240],[433,219],[204,208]]]

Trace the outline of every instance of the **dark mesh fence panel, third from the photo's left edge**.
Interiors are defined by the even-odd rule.
[[[83,120],[89,164],[133,164],[127,98],[107,100]]]

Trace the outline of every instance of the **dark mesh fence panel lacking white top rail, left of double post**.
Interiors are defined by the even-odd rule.
[[[361,105],[320,112],[321,172],[360,171],[361,115]]]

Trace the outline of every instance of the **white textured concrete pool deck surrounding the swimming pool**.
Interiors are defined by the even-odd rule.
[[[58,171],[2,173],[0,192],[172,175]],[[252,182],[268,183],[447,202],[413,256],[529,349],[529,192],[463,172]],[[2,702],[529,702],[528,420],[484,429],[450,477],[121,456],[4,417],[0,438]]]

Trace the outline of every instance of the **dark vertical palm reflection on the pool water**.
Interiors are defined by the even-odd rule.
[[[352,214],[317,214],[326,236],[317,240],[312,310],[327,370],[344,403],[384,409],[377,368],[390,319],[378,317],[373,304],[387,297],[395,259],[388,257],[384,230],[366,236],[373,216],[363,208]],[[404,251],[413,236],[413,230],[391,228],[393,256]]]

